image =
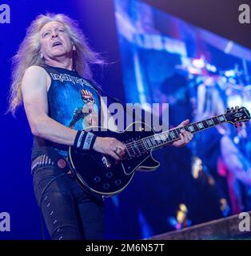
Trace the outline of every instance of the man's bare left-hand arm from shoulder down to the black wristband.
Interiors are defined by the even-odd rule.
[[[30,66],[22,79],[22,97],[30,130],[35,136],[68,146],[74,145],[77,131],[48,116],[47,86],[50,78],[40,66]]]

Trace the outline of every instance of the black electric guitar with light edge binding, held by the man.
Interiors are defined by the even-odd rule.
[[[97,136],[113,137],[123,142],[125,157],[122,161],[115,162],[114,158],[95,150],[79,153],[70,146],[70,165],[81,186],[87,186],[93,192],[103,196],[113,196],[129,185],[137,170],[156,170],[160,163],[154,160],[152,151],[178,140],[181,129],[194,134],[225,122],[237,126],[249,120],[249,111],[245,107],[236,107],[227,109],[225,114],[161,133],[154,133],[144,122],[133,122],[122,132],[92,131]]]

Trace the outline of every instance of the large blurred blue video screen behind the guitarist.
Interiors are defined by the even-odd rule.
[[[126,102],[169,102],[171,127],[227,106],[250,111],[251,50],[141,1],[114,0],[114,9]],[[233,152],[246,180],[228,164]],[[155,152],[160,168],[107,200],[108,238],[147,238],[250,209],[250,153],[250,126],[230,125]]]

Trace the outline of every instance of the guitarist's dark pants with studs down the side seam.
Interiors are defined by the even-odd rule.
[[[38,165],[32,173],[34,193],[52,239],[104,238],[102,198],[82,190],[74,178],[52,163]]]

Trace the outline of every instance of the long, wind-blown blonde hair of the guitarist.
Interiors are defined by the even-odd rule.
[[[94,50],[90,49],[78,22],[65,14],[38,15],[26,31],[26,37],[19,46],[17,54],[12,58],[12,83],[10,87],[8,112],[15,113],[22,104],[21,83],[23,75],[28,67],[43,65],[45,62],[40,56],[39,31],[48,22],[61,22],[66,29],[70,40],[74,43],[74,70],[84,78],[92,79],[91,64],[104,64],[104,60]]]

